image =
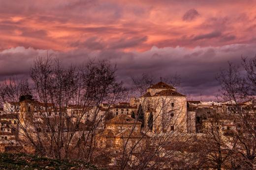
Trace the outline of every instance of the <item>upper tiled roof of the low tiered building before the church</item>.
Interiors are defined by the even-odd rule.
[[[128,116],[127,114],[119,114],[105,123],[117,123],[117,124],[141,124],[140,121]]]

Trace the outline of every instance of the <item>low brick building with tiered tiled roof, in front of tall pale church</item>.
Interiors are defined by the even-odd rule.
[[[147,147],[149,137],[141,132],[141,122],[127,114],[119,114],[105,122],[105,129],[97,135],[98,147],[112,149],[131,149],[139,152]],[[126,143],[128,142],[128,143]],[[137,144],[138,143],[138,144]]]

